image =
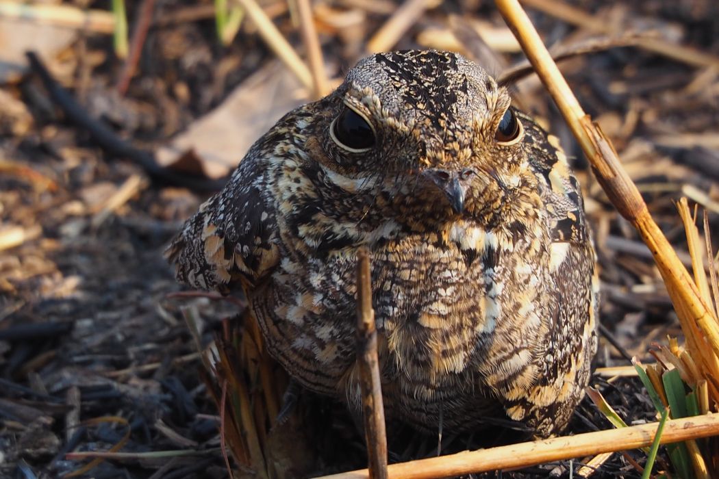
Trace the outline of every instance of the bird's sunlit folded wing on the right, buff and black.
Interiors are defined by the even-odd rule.
[[[556,137],[531,120],[524,126],[531,136],[531,167],[541,180],[548,213],[553,291],[546,303],[549,335],[535,358],[539,379],[523,397],[505,401],[505,406],[510,418],[527,422],[546,437],[569,422],[572,404],[584,394],[597,350],[599,281],[582,192],[567,157]]]

